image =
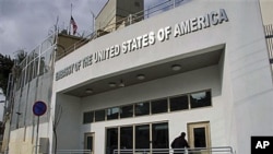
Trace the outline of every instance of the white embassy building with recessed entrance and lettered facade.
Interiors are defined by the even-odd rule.
[[[11,122],[9,152],[155,153],[186,132],[192,149],[250,154],[251,137],[273,135],[264,28],[273,23],[270,5],[259,0],[174,3],[55,60],[48,74],[52,86],[37,91],[50,94],[37,94],[24,108],[32,115],[35,100],[47,104],[38,147],[37,116],[31,116],[29,122]],[[11,121],[27,117],[24,109]]]

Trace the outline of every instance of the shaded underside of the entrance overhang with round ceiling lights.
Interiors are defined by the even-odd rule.
[[[60,93],[76,97],[86,97],[108,91],[115,91],[124,86],[132,86],[152,80],[215,66],[219,63],[224,50],[225,45],[218,45],[161,61],[154,61],[130,70],[123,70],[122,72],[117,72],[99,79],[93,79],[86,83],[70,87]],[[175,71],[173,69],[174,66],[180,66],[180,69],[178,68],[179,70]],[[141,78],[140,75],[144,75],[144,79],[139,79]]]

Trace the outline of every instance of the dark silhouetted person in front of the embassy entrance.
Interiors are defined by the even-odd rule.
[[[188,141],[185,139],[186,133],[181,132],[170,144],[171,149],[186,149],[190,147]],[[175,154],[185,154],[185,150],[175,150]]]

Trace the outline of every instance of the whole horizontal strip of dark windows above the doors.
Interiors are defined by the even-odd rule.
[[[170,96],[155,100],[146,100],[107,109],[94,110],[94,114],[84,112],[83,123],[212,106],[211,95],[211,91],[202,91],[179,96]]]

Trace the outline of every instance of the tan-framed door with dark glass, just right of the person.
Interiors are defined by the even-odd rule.
[[[188,123],[189,144],[191,149],[211,147],[210,122]],[[200,150],[200,154],[210,154]]]

